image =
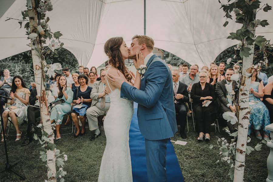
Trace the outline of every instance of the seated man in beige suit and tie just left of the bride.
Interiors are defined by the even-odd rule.
[[[101,80],[94,83],[90,98],[93,99],[91,107],[87,109],[86,116],[88,119],[89,130],[95,131],[91,137],[91,141],[95,140],[99,135],[98,116],[106,115],[110,108],[110,97],[105,85],[106,71],[100,72]]]

